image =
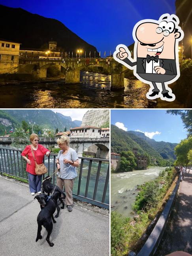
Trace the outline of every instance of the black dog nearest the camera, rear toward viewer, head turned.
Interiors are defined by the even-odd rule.
[[[52,247],[54,243],[51,243],[49,239],[53,230],[53,222],[56,223],[53,217],[53,214],[56,210],[56,204],[54,200],[51,199],[51,197],[47,196],[46,194],[38,194],[37,196],[34,197],[34,199],[35,198],[38,200],[41,206],[41,211],[37,217],[38,233],[37,233],[36,242],[42,238],[41,229],[43,225],[43,227],[45,227],[45,229],[47,230],[47,237],[46,237],[47,243]]]

